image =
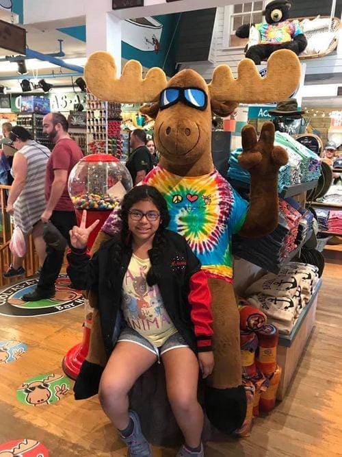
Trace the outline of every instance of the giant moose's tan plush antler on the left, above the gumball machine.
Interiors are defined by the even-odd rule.
[[[116,64],[111,54],[96,51],[90,55],[84,67],[87,88],[101,100],[118,103],[156,101],[166,88],[166,75],[155,67],[142,77],[142,64],[129,60],[120,78],[116,77]]]

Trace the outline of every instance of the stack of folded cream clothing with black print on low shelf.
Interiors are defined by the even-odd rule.
[[[304,306],[313,295],[318,268],[311,264],[289,262],[278,275],[267,273],[246,290],[248,303],[267,315],[267,323],[289,334]]]

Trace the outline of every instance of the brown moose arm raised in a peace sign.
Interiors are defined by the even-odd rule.
[[[259,238],[278,225],[278,171],[287,163],[287,152],[274,146],[274,125],[265,122],[259,140],[252,125],[241,132],[239,164],[250,172],[250,206],[239,234]]]

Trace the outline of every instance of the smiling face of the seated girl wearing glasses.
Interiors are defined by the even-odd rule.
[[[160,212],[153,201],[141,200],[131,206],[128,225],[135,243],[152,242],[160,223]]]

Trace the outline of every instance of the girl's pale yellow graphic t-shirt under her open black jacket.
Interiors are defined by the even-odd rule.
[[[146,282],[149,269],[150,259],[132,255],[122,282],[122,312],[129,327],[160,347],[177,330],[163,306],[159,287]]]

